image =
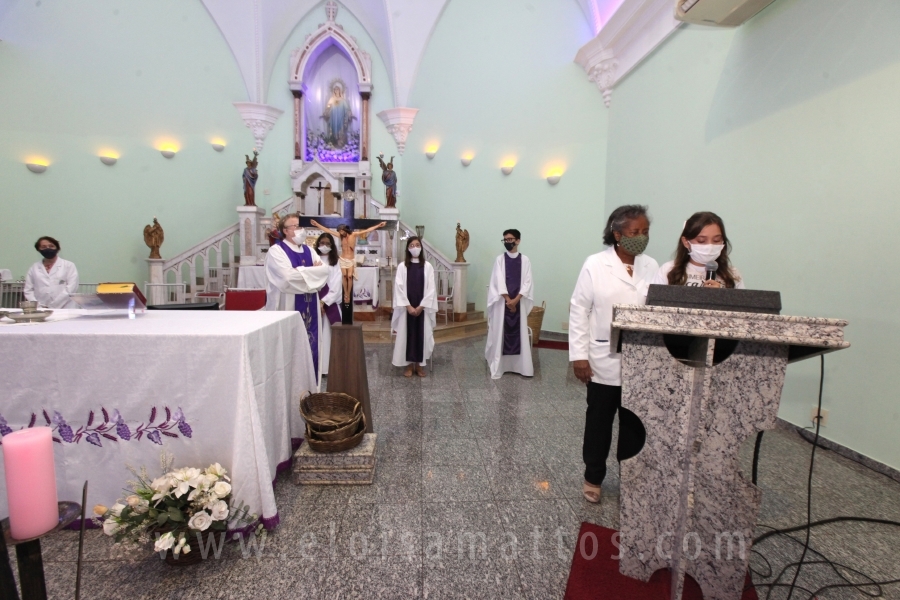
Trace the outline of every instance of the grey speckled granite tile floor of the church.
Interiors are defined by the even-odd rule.
[[[110,541],[90,531],[82,597],[562,598],[580,523],[618,526],[618,468],[611,461],[602,505],[582,499],[585,390],[566,352],[536,350],[533,378],[491,380],[483,348],[484,338],[438,345],[429,376],[407,379],[390,365],[389,346],[368,347],[379,453],[373,485],[295,486],[284,473],[276,487],[282,522],[261,549],[229,544],[218,559],[186,568],[156,556],[112,555]],[[810,448],[795,433],[766,434],[758,533],[805,522]],[[747,444],[747,473],[751,454]],[[900,483],[819,450],[813,518],[839,515],[900,521]],[[794,537],[802,543],[802,532]],[[821,553],[875,579],[900,578],[900,527],[830,525],[814,531],[811,547],[813,560]],[[777,573],[801,550],[794,540],[770,538],[752,564]],[[75,533],[45,541],[51,598],[73,597],[76,552]],[[781,581],[792,576],[789,570]],[[799,582],[815,589],[839,580],[819,565],[804,569]],[[767,589],[760,591],[765,597]],[[873,591],[839,588],[818,598]],[[900,599],[900,585],[881,592]],[[787,593],[776,588],[770,597]]]

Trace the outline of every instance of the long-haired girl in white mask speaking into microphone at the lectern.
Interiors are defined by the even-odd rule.
[[[725,235],[725,222],[716,213],[694,213],[684,222],[675,248],[675,259],[659,268],[652,283],[692,287],[744,289],[744,280],[731,266],[728,255],[731,242]],[[715,266],[715,277],[707,274]]]

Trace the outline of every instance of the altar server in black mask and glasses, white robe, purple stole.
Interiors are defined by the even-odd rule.
[[[492,379],[511,371],[534,375],[531,345],[528,343],[528,313],[534,306],[531,261],[519,253],[518,229],[503,232],[506,252],[494,261],[488,286],[488,340],[484,358]]]

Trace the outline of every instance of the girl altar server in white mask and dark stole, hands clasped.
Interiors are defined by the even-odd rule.
[[[418,237],[406,240],[406,259],[397,265],[394,276],[391,329],[397,332],[397,339],[391,362],[395,367],[405,366],[406,377],[412,377],[414,368],[419,377],[425,377],[425,363],[434,350],[438,310],[434,267],[425,261],[422,252]]]

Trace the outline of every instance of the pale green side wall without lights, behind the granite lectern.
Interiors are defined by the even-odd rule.
[[[877,18],[875,18],[877,16]],[[687,27],[613,93],[607,211],[649,204],[660,263],[684,220],[725,220],[748,287],[850,322],[826,357],[828,438],[900,467],[900,4],[779,0],[737,30]],[[781,416],[808,425],[818,359]]]

